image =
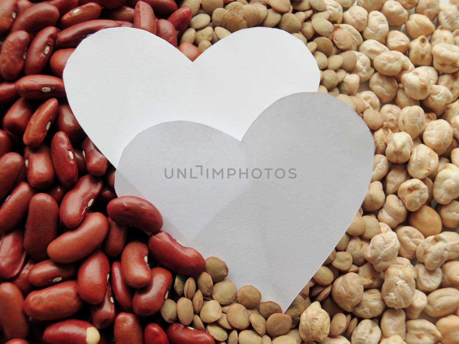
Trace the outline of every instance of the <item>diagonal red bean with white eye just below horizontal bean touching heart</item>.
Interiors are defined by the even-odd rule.
[[[34,112],[27,124],[22,140],[26,146],[37,148],[45,140],[46,134],[57,115],[59,103],[56,98],[45,100]]]

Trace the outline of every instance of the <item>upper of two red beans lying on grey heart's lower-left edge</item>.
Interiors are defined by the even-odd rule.
[[[107,205],[108,216],[113,221],[155,233],[162,227],[162,216],[149,201],[136,196],[122,196]]]

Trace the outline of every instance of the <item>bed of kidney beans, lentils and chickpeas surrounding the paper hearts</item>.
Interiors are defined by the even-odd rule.
[[[373,133],[362,207],[285,314],[157,232],[151,203],[116,198],[61,78],[84,37],[118,26],[190,60],[285,30]],[[458,0],[0,0],[0,35],[1,343],[459,343]]]

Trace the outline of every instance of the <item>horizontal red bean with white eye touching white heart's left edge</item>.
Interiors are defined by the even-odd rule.
[[[33,74],[15,83],[16,92],[27,99],[50,99],[65,97],[64,81],[51,75]]]

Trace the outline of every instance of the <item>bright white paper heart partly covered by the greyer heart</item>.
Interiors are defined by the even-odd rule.
[[[279,29],[237,31],[191,62],[147,31],[110,28],[78,45],[63,78],[75,117],[116,167],[136,134],[162,122],[203,123],[240,140],[274,101],[317,91],[320,73],[306,45]]]

